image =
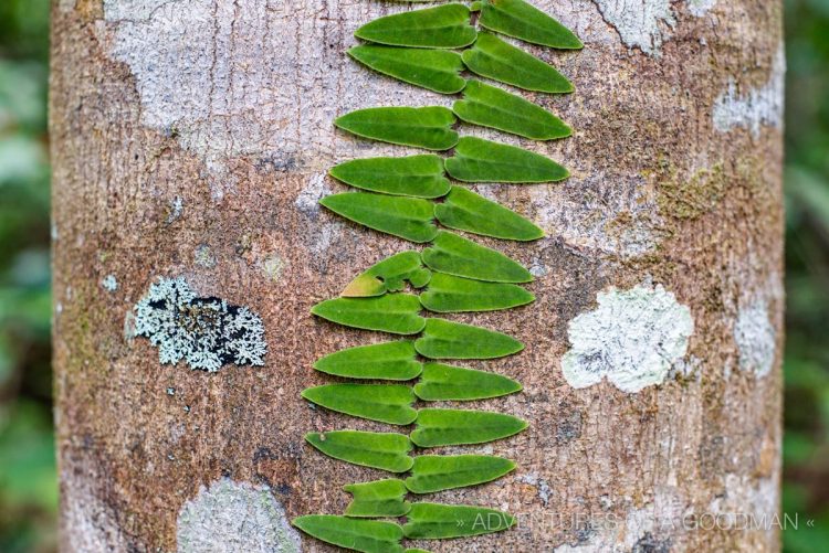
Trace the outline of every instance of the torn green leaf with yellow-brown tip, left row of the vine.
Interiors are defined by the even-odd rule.
[[[432,278],[423,267],[420,252],[401,252],[387,257],[351,280],[340,294],[344,297],[365,298],[382,296],[387,291],[400,291],[408,280],[414,288],[422,288]]]

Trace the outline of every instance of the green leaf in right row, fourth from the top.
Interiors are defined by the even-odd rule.
[[[541,153],[475,137],[461,138],[444,164],[453,179],[465,182],[555,182],[570,176]]]

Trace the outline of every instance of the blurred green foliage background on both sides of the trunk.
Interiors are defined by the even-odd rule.
[[[829,544],[829,0],[787,0],[784,508]],[[50,372],[49,0],[0,0],[0,552],[54,551]]]

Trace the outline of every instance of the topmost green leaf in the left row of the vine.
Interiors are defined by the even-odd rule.
[[[386,15],[360,26],[354,35],[392,46],[458,49],[475,41],[475,29],[469,22],[469,8],[450,3]]]

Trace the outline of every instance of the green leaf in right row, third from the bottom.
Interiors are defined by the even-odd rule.
[[[418,447],[484,444],[518,434],[527,427],[521,418],[491,411],[423,408],[409,435]]]

